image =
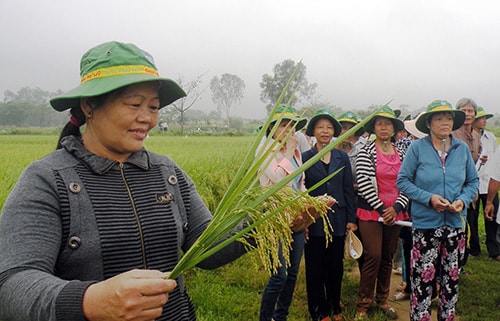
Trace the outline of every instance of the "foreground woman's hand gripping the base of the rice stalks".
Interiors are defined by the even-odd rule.
[[[87,320],[154,320],[177,286],[168,273],[132,270],[92,284],[83,296]]]

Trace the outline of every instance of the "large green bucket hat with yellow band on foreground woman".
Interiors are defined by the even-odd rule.
[[[80,85],[50,100],[57,111],[80,105],[80,98],[99,96],[146,81],[160,83],[160,107],[186,93],[172,79],[160,78],[153,57],[134,44],[106,42],[88,50],[80,60]]]

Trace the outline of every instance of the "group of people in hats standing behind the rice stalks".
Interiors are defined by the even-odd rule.
[[[293,108],[287,108],[286,113],[294,117],[283,117],[280,126],[303,128],[303,120],[297,118]],[[357,230],[364,247],[359,260],[355,320],[366,320],[373,303],[389,319],[398,318],[388,297],[399,237],[406,240],[407,282],[401,289],[405,295],[396,295],[395,300],[411,297],[411,319],[423,320],[430,319],[431,302],[437,298],[438,320],[454,320],[459,275],[467,273],[464,266],[468,256],[476,256],[480,251],[478,199],[483,202],[489,256],[496,261],[500,259],[500,225],[496,214],[500,153],[495,154],[495,136],[485,130],[486,119],[492,115],[477,107],[472,99],[464,98],[455,108],[445,100],[435,100],[413,120],[403,122],[398,116],[391,108],[382,108],[363,130],[343,139],[337,149],[305,170],[301,178],[305,187],[311,187],[343,168],[311,192],[312,195],[327,193],[338,200],[329,213],[335,223],[331,231],[334,241],[325,243],[323,221],[319,219],[309,226],[305,245],[301,236],[301,243],[294,248],[299,252],[304,248],[312,320],[343,319],[342,249],[350,230]],[[311,159],[359,122],[352,112],[337,119],[328,110],[317,111],[305,131],[314,143],[302,153],[298,143],[291,144],[294,152],[288,155],[294,156],[287,163],[300,166],[301,161]],[[360,139],[363,132],[371,135],[368,141]],[[399,137],[398,133],[403,132]],[[289,140],[297,142],[297,135],[300,136],[299,132],[288,135]],[[287,141],[285,146],[288,145]],[[274,171],[281,171],[282,175],[293,172],[279,165],[279,161],[275,162]],[[298,263],[295,268],[298,269]],[[291,283],[287,283],[290,279],[286,279],[283,270],[283,291],[293,292],[293,286],[288,285],[295,284],[296,269],[290,274]],[[260,320],[286,319],[287,310],[279,302],[282,294],[276,297],[278,301],[271,301],[276,310],[270,309],[267,297],[262,298],[262,307],[268,307],[270,312],[261,309]],[[291,297],[290,292],[286,297]]]

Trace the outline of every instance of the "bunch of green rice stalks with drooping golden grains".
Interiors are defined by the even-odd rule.
[[[293,220],[293,217],[299,213],[307,213],[309,210],[313,210],[318,212],[320,217],[326,218],[325,214],[329,208],[325,207],[324,200],[321,200],[321,198],[315,199],[309,196],[308,192],[326,182],[336,173],[326,177],[313,186],[313,188],[300,194],[296,192],[290,193],[286,186],[295,177],[301,175],[306,169],[318,162],[326,153],[329,153],[346,138],[363,127],[376,112],[387,106],[388,103],[376,109],[370,116],[366,117],[362,122],[355,125],[334,142],[327,145],[317,155],[305,162],[283,180],[275,185],[262,188],[258,184],[260,175],[259,168],[265,165],[266,161],[269,161],[270,158],[274,157],[277,152],[279,152],[279,149],[284,145],[286,139],[283,142],[272,141],[271,143],[270,137],[268,137],[265,142],[268,143],[271,148],[262,149],[258,152],[257,149],[263,141],[265,129],[268,128],[271,123],[272,115],[281,104],[297,70],[298,68],[296,67],[287,85],[283,89],[280,98],[271,111],[270,116],[262,126],[262,130],[259,132],[256,140],[249,149],[235,178],[215,209],[211,222],[193,246],[182,255],[177,265],[169,274],[169,278],[177,278],[180,274],[187,272],[213,253],[236,240],[260,251],[258,256],[261,258],[263,265],[270,271],[273,271],[277,267],[276,251],[279,248],[277,242],[281,242],[282,249],[284,249],[285,252],[287,251],[286,249],[289,249],[291,242],[290,222]],[[289,133],[289,135],[291,135],[291,133]],[[272,133],[269,136],[272,136]],[[263,225],[264,223],[269,225]],[[262,226],[262,229],[259,230],[260,226]],[[325,226],[325,228],[329,226],[328,221],[325,221]],[[239,231],[237,232],[235,232],[236,227],[239,227]],[[272,227],[277,230],[279,229],[279,235],[275,235],[276,233],[269,234],[269,229]],[[327,233],[327,235],[329,235],[329,233]],[[248,242],[248,239],[253,241]],[[275,257],[275,259],[271,259],[272,257]]]

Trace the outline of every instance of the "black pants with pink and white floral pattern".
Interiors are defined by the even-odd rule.
[[[455,320],[458,276],[465,254],[465,234],[449,226],[414,229],[411,253],[412,321],[431,320],[433,285],[440,280],[438,320]]]

